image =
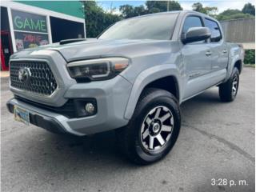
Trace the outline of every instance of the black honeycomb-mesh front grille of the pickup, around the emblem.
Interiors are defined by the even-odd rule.
[[[30,70],[30,77],[25,82],[18,78],[21,69]],[[49,96],[57,89],[57,82],[46,62],[13,61],[10,62],[10,86]]]

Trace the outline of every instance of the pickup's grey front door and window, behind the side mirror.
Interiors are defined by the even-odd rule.
[[[190,27],[204,26],[202,18],[198,15],[186,16],[182,26],[182,34],[186,34]],[[182,99],[190,98],[208,88],[207,74],[211,70],[210,45],[206,41],[182,44],[182,58],[185,66],[186,82]]]

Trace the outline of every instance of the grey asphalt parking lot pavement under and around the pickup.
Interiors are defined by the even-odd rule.
[[[150,166],[127,162],[114,131],[76,138],[14,122],[1,78],[2,191],[254,191],[254,73],[244,67],[234,102],[217,87],[184,102],[178,142]]]

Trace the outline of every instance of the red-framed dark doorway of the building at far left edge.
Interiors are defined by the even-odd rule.
[[[1,68],[8,70],[10,55],[13,54],[10,33],[1,31]]]

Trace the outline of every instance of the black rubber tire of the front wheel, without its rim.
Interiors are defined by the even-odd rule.
[[[168,109],[171,112],[174,118],[174,126],[170,132],[169,140],[167,141],[166,139],[166,143],[161,146],[161,150],[154,152],[146,150],[143,146],[141,129],[142,123],[145,123],[144,120],[147,117],[146,115],[149,114],[150,110],[152,111],[152,109],[158,106],[162,106],[164,109]],[[119,147],[123,154],[125,154],[132,162],[146,165],[152,162],[157,162],[169,153],[178,138],[180,127],[180,109],[178,101],[174,95],[166,90],[149,88],[144,90],[139,98],[129,124],[126,127],[118,129],[116,133]]]

